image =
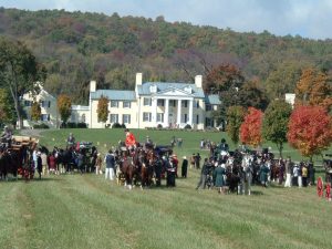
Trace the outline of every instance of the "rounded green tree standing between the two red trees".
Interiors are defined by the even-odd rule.
[[[288,123],[291,113],[291,105],[283,100],[272,101],[264,112],[262,136],[277,145],[280,157],[282,157],[283,143],[287,142]]]

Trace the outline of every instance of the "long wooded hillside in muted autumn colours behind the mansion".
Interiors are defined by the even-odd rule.
[[[239,33],[163,17],[0,8],[0,35],[23,41],[48,69],[45,89],[71,93],[77,103],[87,101],[91,79],[98,87],[133,89],[136,72],[144,81],[187,82],[231,63],[276,97],[293,91],[301,69],[332,70],[332,40]],[[282,89],[276,86],[280,79]]]

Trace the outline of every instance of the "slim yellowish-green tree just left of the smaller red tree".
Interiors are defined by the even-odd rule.
[[[226,131],[234,144],[239,143],[240,126],[245,118],[246,110],[242,106],[230,106],[227,110]]]

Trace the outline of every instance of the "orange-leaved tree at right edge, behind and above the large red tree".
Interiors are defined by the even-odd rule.
[[[332,110],[332,81],[326,72],[307,69],[297,84],[297,103]]]

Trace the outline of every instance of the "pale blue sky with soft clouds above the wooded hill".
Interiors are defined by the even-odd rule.
[[[332,39],[332,0],[0,0],[4,8],[117,12],[235,31]]]

